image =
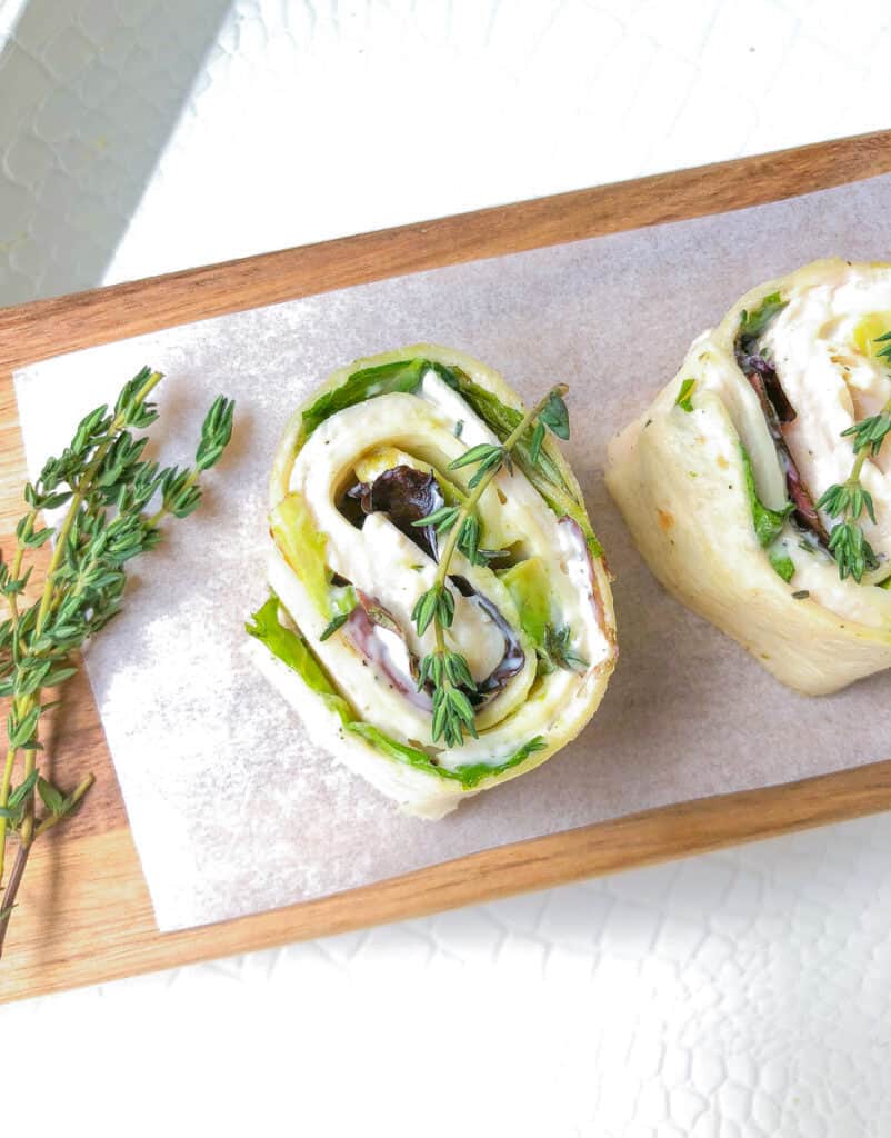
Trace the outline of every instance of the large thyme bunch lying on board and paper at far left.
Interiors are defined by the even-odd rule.
[[[121,611],[126,563],[158,544],[165,518],[185,518],[197,509],[200,475],[218,462],[232,434],[234,405],[218,396],[204,420],[192,465],[162,468],[143,459],[148,438],[132,432],[157,420],[149,396],[160,380],[160,372],[143,368],[124,385],[114,409],[104,404],[81,420],[61,455],[49,459],[36,481],[26,484],[28,509],[16,527],[13,560],[0,561],[0,594],[8,610],[0,624],[0,696],[10,700],[0,776],[0,887],[7,843],[13,835],[18,839],[0,907],[0,953],[34,841],[68,817],[93,783],[86,775],[66,793],[41,774],[41,720],[59,702],[46,701],[44,692],[79,670],[79,649]],[[147,514],[157,495],[160,504]],[[67,510],[58,528],[39,528],[41,511],[61,506]],[[53,534],[42,592],[19,608],[33,570],[33,564],[23,568],[25,559]]]

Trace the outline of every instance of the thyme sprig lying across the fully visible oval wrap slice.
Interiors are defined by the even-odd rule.
[[[464,732],[477,737],[471,702],[477,687],[464,657],[446,645],[446,630],[452,627],[455,616],[455,599],[448,588],[452,558],[457,549],[471,564],[487,564],[492,559],[495,551],[479,549],[479,501],[500,470],[513,473],[511,452],[527,434],[531,434],[530,455],[535,463],[539,462],[547,429],[559,438],[569,438],[569,414],[563,402],[568,390],[564,384],[558,384],[522,417],[503,443],[479,443],[449,463],[449,470],[476,465],[468,480],[469,495],[460,505],[442,506],[413,522],[415,526],[432,525],[440,537],[446,537],[434,584],[421,594],[412,611],[418,635],[422,636],[432,625],[436,636],[436,649],[421,661],[418,677],[419,691],[428,683],[432,686],[430,734],[434,742],[443,739],[447,747],[460,747]]]

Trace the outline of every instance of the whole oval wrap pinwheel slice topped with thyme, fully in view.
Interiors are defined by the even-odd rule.
[[[258,660],[407,814],[541,766],[613,669],[609,574],[553,438],[564,390],[527,412],[489,368],[415,345],[335,372],[275,455]]]

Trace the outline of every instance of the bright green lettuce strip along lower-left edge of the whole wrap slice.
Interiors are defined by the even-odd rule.
[[[509,759],[505,759],[497,766],[489,766],[485,762],[468,762],[456,767],[454,770],[439,767],[423,751],[419,751],[414,747],[406,747],[404,743],[398,743],[372,724],[363,723],[355,718],[353,709],[344,696],[338,693],[303,636],[295,629],[286,628],[279,624],[279,599],[274,593],[254,613],[251,619],[254,624],[246,625],[246,630],[265,644],[274,657],[296,671],[307,687],[321,695],[325,706],[339,717],[346,731],[352,732],[354,735],[361,735],[376,750],[395,759],[397,762],[405,762],[427,774],[438,775],[440,778],[460,782],[465,790],[471,790],[478,786],[485,778],[504,774],[505,770],[519,766],[535,751],[541,751],[545,747],[544,739],[541,735],[536,735],[535,739],[530,739],[528,743],[523,743]]]

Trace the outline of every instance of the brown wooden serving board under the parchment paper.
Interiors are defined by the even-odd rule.
[[[580,190],[0,310],[0,547],[25,479],[11,371],[74,348],[440,265],[759,205],[891,172],[891,132]],[[742,287],[742,286],[741,286]],[[0,999],[125,976],[718,849],[891,809],[891,761],[650,810],[258,916],[159,934],[102,729],[79,676],[48,754],[83,810],[35,847]]]

